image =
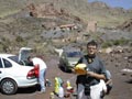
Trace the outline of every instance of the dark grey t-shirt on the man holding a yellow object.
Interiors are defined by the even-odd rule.
[[[85,55],[84,57],[81,57],[78,62],[78,64],[86,64],[87,65],[87,69],[89,72],[94,72],[97,74],[106,74],[106,68],[103,66],[102,61],[98,57],[90,57],[88,55]],[[82,84],[84,86],[87,85],[96,85],[100,81],[100,79],[97,79],[95,77],[89,77],[88,75],[78,75],[77,76],[77,80],[76,84]]]

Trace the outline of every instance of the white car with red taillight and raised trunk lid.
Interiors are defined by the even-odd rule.
[[[15,94],[20,87],[31,87],[37,84],[34,66],[19,63],[19,56],[0,54],[0,89],[6,95]]]

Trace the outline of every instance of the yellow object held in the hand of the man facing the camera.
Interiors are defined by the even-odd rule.
[[[86,64],[77,64],[74,69],[75,73],[78,75],[86,75],[87,70],[86,70],[87,65]]]

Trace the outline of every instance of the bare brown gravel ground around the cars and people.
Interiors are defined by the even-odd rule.
[[[102,54],[101,57],[105,61],[106,67],[111,72],[113,79],[113,89],[109,96],[105,99],[131,99],[132,97],[132,78],[129,76],[123,76],[120,73],[121,68],[128,65],[128,62],[123,59],[123,54],[117,54],[114,56]],[[19,89],[16,95],[7,96],[0,94],[0,99],[50,99],[50,94],[54,90],[54,78],[56,76],[62,77],[64,84],[66,80],[70,80],[72,86],[75,88],[76,75],[64,73],[58,68],[58,57],[57,56],[45,56],[45,62],[48,66],[47,79],[52,82],[51,87],[46,88],[45,94],[38,94],[35,87]],[[130,63],[132,65],[132,63]],[[59,99],[59,98],[55,98]],[[75,99],[75,97],[67,98]]]

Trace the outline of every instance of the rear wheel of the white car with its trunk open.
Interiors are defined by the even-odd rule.
[[[6,95],[13,95],[18,90],[16,82],[13,79],[3,79],[0,86],[1,91]]]

